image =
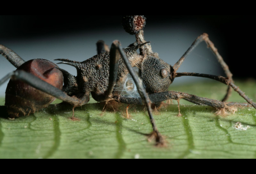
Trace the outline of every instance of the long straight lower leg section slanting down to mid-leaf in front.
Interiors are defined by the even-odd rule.
[[[129,70],[129,73],[131,74],[131,76],[132,76],[132,78],[133,78],[133,80],[134,80],[134,82],[135,82],[135,84],[138,88],[138,92],[139,92],[140,97],[142,99],[142,103],[147,107],[147,111],[148,111],[148,114],[149,114],[149,117],[150,117],[150,122],[151,122],[152,127],[153,127],[153,134],[152,135],[154,135],[156,137],[157,145],[164,146],[165,142],[164,142],[164,139],[163,139],[162,135],[157,130],[156,123],[155,123],[155,120],[154,120],[154,117],[153,117],[153,114],[152,114],[151,101],[149,99],[149,95],[147,94],[146,90],[143,88],[142,80],[138,77],[138,75],[133,70],[133,68],[132,68],[132,66],[129,62],[129,59],[127,58],[127,55],[125,54],[124,50],[122,49],[120,43],[118,41],[114,41],[112,46],[120,52],[120,54],[121,54],[121,56],[124,60],[124,63],[126,65],[127,69]]]

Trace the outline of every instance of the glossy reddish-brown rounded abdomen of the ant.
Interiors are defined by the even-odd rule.
[[[33,59],[22,64],[17,70],[23,70],[62,90],[63,74],[53,62]],[[55,100],[28,84],[11,79],[6,88],[5,105],[10,117],[19,117],[35,113],[49,106]]]

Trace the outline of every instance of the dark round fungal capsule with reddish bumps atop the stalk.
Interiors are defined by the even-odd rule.
[[[135,35],[144,29],[146,17],[144,15],[124,15],[122,17],[122,25],[127,33]]]

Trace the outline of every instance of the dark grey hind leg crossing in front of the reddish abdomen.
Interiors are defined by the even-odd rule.
[[[82,106],[86,104],[89,100],[89,93],[86,94],[81,99],[78,99],[77,97],[70,97],[66,93],[64,93],[62,90],[59,90],[58,88],[50,85],[49,83],[41,80],[40,78],[35,77],[34,75],[30,73],[26,73],[22,70],[16,70],[12,73],[7,74],[5,77],[3,77],[0,80],[0,86],[5,81],[7,81],[9,78],[12,78],[13,80],[21,80],[30,86],[43,91],[53,97],[56,97],[57,99],[63,100],[64,102],[67,102],[75,107]]]

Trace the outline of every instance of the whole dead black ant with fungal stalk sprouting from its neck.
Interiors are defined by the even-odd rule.
[[[143,29],[146,25],[146,17],[144,15],[124,15],[122,25],[126,32],[135,35],[136,38],[136,42],[127,48],[123,49],[119,41],[114,41],[109,49],[103,41],[99,41],[97,43],[98,55],[90,59],[83,62],[68,59],[55,60],[61,61],[58,64],[75,67],[77,77],[44,59],[25,62],[11,49],[0,45],[0,54],[17,68],[16,71],[7,74],[0,80],[1,85],[11,78],[6,89],[5,103],[9,116],[19,117],[35,113],[37,110],[49,106],[57,98],[73,106],[72,119],[75,119],[75,107],[87,104],[91,94],[97,102],[107,103],[115,100],[125,104],[145,105],[153,128],[151,136],[156,139],[157,145],[164,146],[165,140],[157,130],[153,118],[152,104],[159,107],[161,102],[174,99],[178,101],[179,107],[179,100],[185,99],[192,103],[214,107],[217,110],[231,111],[234,108],[249,106],[256,109],[256,103],[235,86],[227,64],[206,33],[200,35],[179,61],[171,66],[152,51],[150,42],[145,41]],[[185,58],[203,41],[215,54],[227,78],[199,73],[177,73]],[[140,50],[140,53],[137,53],[137,49]],[[134,67],[139,69],[138,73],[134,71]],[[127,85],[125,83],[128,75],[133,80],[129,82],[129,88],[137,87],[140,97],[125,97],[121,95],[120,90],[116,90]],[[219,101],[168,91],[174,79],[182,76],[204,77],[219,81],[228,86],[227,94],[222,101]],[[232,89],[248,103],[226,102]],[[178,116],[181,116],[180,110]]]

